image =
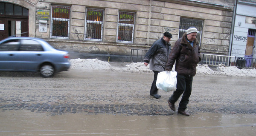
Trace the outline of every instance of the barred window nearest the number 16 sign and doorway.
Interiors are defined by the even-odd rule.
[[[51,38],[69,39],[70,7],[52,6]]]

